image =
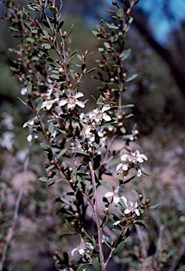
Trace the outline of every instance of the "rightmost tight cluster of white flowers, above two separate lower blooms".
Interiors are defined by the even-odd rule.
[[[117,165],[117,174],[121,176],[127,176],[129,174],[129,169],[133,168],[138,171],[137,176],[141,176],[142,171],[145,171],[142,163],[148,158],[140,154],[138,150],[136,152],[131,152],[131,155],[122,155],[121,164]]]

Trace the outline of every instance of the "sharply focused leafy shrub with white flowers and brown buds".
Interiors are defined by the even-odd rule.
[[[67,226],[61,234],[79,237],[79,245],[70,251],[72,256],[78,252],[76,260],[66,251],[63,255],[56,251],[59,270],[91,267],[107,270],[109,260],[116,261],[124,250],[130,228],[146,229],[145,210],[157,207],[151,205],[141,188],[132,189],[136,200],[130,203],[121,191],[126,183],[145,174],[143,162],[148,159],[131,144],[137,139],[138,130],[136,126],[131,131],[127,128],[133,116],[133,104],[124,103],[124,92],[137,76],[124,68],[131,54],[124,42],[133,22],[131,10],[136,2],[130,0],[125,5],[123,1],[119,6],[112,1],[114,9],[108,12],[114,23],[101,20],[93,31],[102,41],[98,49],[101,59],[97,60],[100,71],[93,76],[101,83],[100,96],[92,97],[95,109],[83,112],[88,101],[81,101],[83,92],[87,91],[81,90],[81,81],[95,68],[86,65],[90,56],[88,49],[78,55],[80,73],[71,68],[78,51],[71,52],[73,25],[68,32],[64,30],[64,20],[60,18],[62,3],[58,9],[52,0],[29,1],[28,8],[40,13],[38,20],[26,8],[22,11],[16,1],[4,1],[7,7],[4,18],[11,23],[9,29],[21,38],[17,49],[10,49],[16,54],[11,69],[22,85],[23,98],[19,100],[34,113],[33,119],[23,127],[30,129],[28,141],[39,143],[42,157],[47,157],[47,173],[40,176],[40,181],[49,182],[49,186],[56,183],[67,186],[56,198],[60,203],[59,214]],[[122,140],[121,145],[119,150],[114,150],[118,138]],[[118,176],[111,187],[105,178],[113,175],[111,168],[115,165]],[[99,193],[102,187],[107,189],[104,196]],[[101,201],[105,206],[99,212]],[[92,212],[93,233],[87,224],[88,214]],[[107,234],[109,229],[112,234]]]

